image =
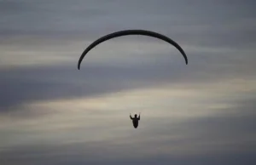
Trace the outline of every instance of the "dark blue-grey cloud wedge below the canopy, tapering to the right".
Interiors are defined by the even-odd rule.
[[[167,69],[167,65],[133,68],[83,65],[78,71],[76,65],[58,65],[1,71],[0,105],[7,108],[32,100],[55,100],[146,88],[156,83],[167,83],[171,77],[180,77]]]

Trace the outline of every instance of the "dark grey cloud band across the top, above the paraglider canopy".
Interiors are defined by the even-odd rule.
[[[2,1],[0,34],[96,39],[129,28],[203,46],[255,44],[252,1]]]

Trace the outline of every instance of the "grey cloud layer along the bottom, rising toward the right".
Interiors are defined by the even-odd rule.
[[[33,164],[35,160],[49,164],[154,164],[158,161],[160,164],[253,164],[256,136],[253,102],[248,104],[247,100],[242,100],[239,103],[240,107],[235,108],[235,111],[242,108],[242,115],[230,111],[221,116],[198,117],[172,125],[165,124],[166,120],[158,124],[151,122],[152,125],[143,128],[141,134],[127,130],[130,134],[121,138],[98,142],[73,141],[65,144],[60,137],[60,141],[52,145],[7,148],[1,152],[0,160],[9,164]],[[102,129],[98,131],[103,132]],[[119,134],[112,128],[108,131]],[[73,129],[66,134],[80,133]],[[73,139],[76,139],[75,136]]]

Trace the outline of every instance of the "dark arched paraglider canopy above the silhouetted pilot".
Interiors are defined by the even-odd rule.
[[[175,48],[177,48],[179,50],[179,52],[181,54],[183,54],[183,57],[186,61],[186,65],[188,65],[188,58],[187,55],[185,54],[185,52],[183,51],[183,48],[181,48],[176,42],[174,42],[171,38],[166,37],[160,33],[154,32],[154,31],[145,31],[145,30],[125,30],[125,31],[116,31],[113,33],[110,33],[106,36],[100,37],[99,39],[97,39],[95,42],[91,43],[83,52],[83,54],[81,54],[80,58],[79,58],[79,64],[78,64],[78,68],[80,70],[80,65],[82,60],[84,59],[84,56],[90,51],[90,49],[95,48],[96,45],[105,42],[109,39],[112,39],[114,37],[121,37],[121,36],[127,36],[127,35],[143,35],[143,36],[148,36],[148,37],[156,37],[159,38],[161,40],[166,41],[167,43],[172,44],[172,46],[174,46]]]

